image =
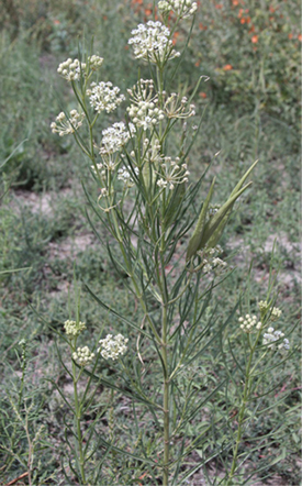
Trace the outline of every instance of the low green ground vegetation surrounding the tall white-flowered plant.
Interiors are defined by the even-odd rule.
[[[278,303],[283,311],[280,329],[290,330],[289,339],[293,347],[300,342],[299,330],[292,329],[300,314],[297,306],[300,298],[298,7],[294,1],[275,2],[261,9],[258,2],[249,2],[248,5],[235,3],[233,1],[230,7],[224,3],[221,9],[215,8],[213,2],[202,2],[188,46],[189,55],[182,58],[182,68],[178,70],[177,86],[172,86],[174,69],[167,70],[167,90],[174,89],[183,96],[187,90],[193,92],[193,84],[199,75],[211,77],[206,82],[202,80],[199,88],[202,91],[197,101],[197,111],[201,113],[208,100],[211,101],[188,155],[193,181],[205,172],[203,186],[202,190],[195,192],[192,207],[187,208],[188,221],[184,218],[183,224],[184,221],[187,224],[197,221],[213,173],[216,184],[212,202],[216,207],[227,200],[239,177],[255,159],[259,159],[254,172],[253,191],[248,190],[241,202],[236,202],[221,238],[222,257],[237,268],[217,289],[213,289],[211,301],[206,301],[205,297],[201,300],[204,307],[199,325],[204,335],[195,344],[199,353],[197,363],[186,365],[172,380],[176,397],[171,406],[174,427],[177,427],[184,405],[195,410],[195,415],[183,415],[183,422],[174,439],[174,457],[189,452],[188,461],[183,461],[181,467],[180,462],[171,465],[176,472],[171,479],[174,484],[178,484],[177,474],[192,484],[204,482],[206,475],[208,484],[220,484],[222,474],[228,467],[232,451],[226,437],[235,437],[238,427],[238,391],[242,389],[239,366],[245,364],[246,342],[239,334],[237,314],[233,313],[228,322],[226,316],[232,314],[239,297],[246,291],[246,264],[251,261],[254,270],[249,292],[245,294],[238,312],[256,312],[257,296],[264,298],[266,289],[275,236],[279,240],[275,253],[276,272],[280,267]],[[90,35],[93,32],[92,51],[104,57],[102,79],[112,80],[125,92],[136,80],[126,45],[130,31],[138,22],[152,18],[152,5],[133,0],[91,0],[85,3],[14,0],[4,1],[3,4],[4,15],[0,20],[0,197],[7,194],[10,186],[12,188],[1,199],[0,206],[0,349],[3,356],[0,433],[2,446],[10,451],[1,451],[3,468],[0,482],[7,484],[27,471],[29,439],[35,439],[41,426],[44,431],[35,442],[33,483],[76,482],[71,461],[74,452],[66,445],[67,441],[70,442],[71,433],[64,435],[65,426],[69,427],[68,430],[72,428],[72,413],[56,387],[51,382],[46,385],[42,379],[42,376],[56,377],[56,384],[72,401],[70,377],[57,360],[54,338],[57,332],[61,333],[63,323],[68,317],[68,290],[72,291],[76,274],[87,285],[82,286],[80,314],[88,329],[81,336],[80,345],[97,347],[99,336],[103,336],[100,335],[102,330],[112,334],[121,332],[127,335],[133,345],[132,351],[123,356],[123,364],[99,360],[94,374],[96,379],[101,378],[102,383],[81,420],[83,431],[87,423],[94,423],[96,435],[91,438],[90,445],[98,443],[94,442],[96,437],[101,438],[101,445],[98,443],[88,472],[92,475],[97,464],[102,466],[98,484],[160,484],[160,463],[153,460],[159,460],[156,451],[161,448],[163,420],[160,417],[156,420],[142,399],[134,408],[134,400],[128,394],[133,391],[134,377],[144,373],[144,389],[154,399],[160,396],[161,364],[156,357],[154,342],[142,335],[137,340],[137,325],[144,313],[139,310],[137,299],[133,299],[128,291],[131,284],[127,272],[115,263],[121,261],[119,245],[109,239],[110,257],[105,231],[100,227],[98,214],[89,213],[94,233],[85,222],[87,202],[80,183],[83,183],[92,201],[99,196],[96,183],[89,180],[87,164],[70,140],[49,133],[49,124],[63,107],[66,107],[66,112],[76,108],[70,90],[64,88],[55,76],[57,64],[69,56],[78,57],[79,51],[83,52],[83,44],[90,54]],[[9,4],[15,8],[14,11],[7,9]],[[244,11],[238,18],[242,8]],[[245,12],[246,9],[249,12]],[[248,22],[241,23],[242,18],[248,16]],[[251,25],[255,32],[248,32]],[[188,24],[183,23],[175,37],[178,47],[184,44],[187,33]],[[292,38],[289,38],[291,34]],[[251,42],[253,35],[258,36],[255,43]],[[148,77],[146,66],[142,65],[141,76]],[[96,132],[98,143],[101,142],[100,131],[121,119],[122,113],[120,108],[116,118],[111,114],[107,120],[100,120]],[[172,155],[177,152],[177,131],[170,133],[167,150]],[[215,157],[217,152],[220,155]],[[27,189],[27,192],[16,190],[14,185]],[[48,192],[49,189],[52,191]],[[41,197],[36,198],[33,190],[43,190]],[[45,190],[49,201],[47,210],[43,202]],[[58,197],[60,190],[63,196]],[[182,198],[183,195],[178,191],[175,198],[177,207]],[[36,202],[32,205],[32,200]],[[130,208],[134,202],[131,200]],[[167,224],[171,224],[177,217],[171,205],[166,216]],[[193,228],[191,225],[190,235]],[[137,238],[135,225],[132,229],[134,238]],[[143,241],[144,235],[139,233],[138,236]],[[79,244],[81,238],[85,244]],[[180,243],[174,248],[177,258],[186,253],[187,247],[188,239],[181,235]],[[150,270],[152,261],[152,253],[146,252],[145,263],[148,263]],[[18,272],[24,267],[25,270]],[[168,285],[176,285],[177,288],[175,279],[179,264],[174,257],[167,264],[168,268]],[[144,273],[141,275],[143,279]],[[206,286],[202,289],[205,291]],[[186,312],[190,312],[186,308],[186,296],[179,309],[183,322],[181,325],[178,319],[174,322],[175,338],[181,345],[184,345],[188,336],[187,320],[183,318]],[[100,300],[104,305],[100,305]],[[160,306],[150,291],[146,303],[157,323]],[[223,323],[225,327],[222,329]],[[195,334],[192,334],[194,342],[198,341],[198,331],[197,325]],[[22,373],[21,358],[18,361],[14,349],[23,336],[29,339],[33,347],[27,347],[30,364],[24,375],[20,420],[12,404],[18,404]],[[71,365],[64,340],[58,347],[63,363]],[[224,353],[221,353],[222,349]],[[143,356],[143,363],[137,360],[137,352]],[[177,349],[175,355],[177,360]],[[295,356],[287,363],[271,356],[271,368],[255,387],[243,441],[238,446],[238,454],[248,457],[244,465],[245,479],[249,472],[258,470],[257,481],[264,483],[267,477],[278,481],[278,474],[288,485],[295,486],[300,481],[297,457],[300,454],[301,394],[299,360]],[[219,388],[220,384],[228,380],[227,369],[233,380],[226,388]],[[79,393],[88,377],[88,374],[82,374]],[[97,380],[94,383],[98,384]],[[138,395],[134,397],[136,399]],[[208,400],[206,405],[200,397]],[[96,421],[97,417],[99,421]],[[24,429],[26,418],[29,434]],[[187,443],[181,442],[184,434]],[[186,448],[189,443],[192,448],[188,451]],[[66,457],[67,449],[70,464]],[[123,456],[122,451],[127,455]],[[142,461],[142,451],[144,457],[152,462]],[[38,457],[43,457],[43,462],[38,463]],[[25,484],[26,477],[20,482]],[[243,478],[238,476],[238,481],[241,484]],[[253,484],[254,479],[250,481]]]

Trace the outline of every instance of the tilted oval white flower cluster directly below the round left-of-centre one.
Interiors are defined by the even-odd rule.
[[[113,154],[120,151],[135,133],[133,123],[128,124],[128,130],[124,122],[114,123],[109,129],[102,131],[101,155]]]

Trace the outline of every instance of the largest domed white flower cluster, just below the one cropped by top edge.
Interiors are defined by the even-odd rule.
[[[146,25],[137,25],[131,33],[133,37],[128,40],[128,44],[133,46],[136,58],[163,65],[166,60],[180,56],[174,49],[169,29],[161,22],[150,20]]]

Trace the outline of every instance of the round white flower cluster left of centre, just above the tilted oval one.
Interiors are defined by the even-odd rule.
[[[111,113],[125,100],[124,95],[120,95],[120,88],[113,86],[110,81],[101,81],[98,85],[91,82],[86,93],[90,99],[91,107],[94,108],[98,113],[101,113],[101,111]]]

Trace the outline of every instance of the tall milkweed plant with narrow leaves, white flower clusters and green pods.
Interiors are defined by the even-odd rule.
[[[209,431],[217,426],[216,419],[209,413],[202,419],[203,427],[198,428],[198,433],[189,433],[194,420],[201,417],[202,407],[206,408],[223,386],[227,388],[227,380],[217,383],[209,388],[208,396],[206,391],[202,396],[202,391],[193,387],[192,377],[198,373],[193,369],[199,369],[206,356],[208,346],[216,339],[211,332],[215,323],[214,313],[210,312],[211,296],[213,288],[220,285],[217,277],[223,273],[221,279],[224,279],[227,275],[219,241],[236,200],[251,184],[244,185],[256,164],[223,205],[211,205],[213,180],[199,210],[192,211],[204,177],[203,174],[195,184],[189,179],[189,153],[200,128],[200,123],[192,121],[197,117],[192,99],[198,86],[190,96],[184,96],[168,92],[167,85],[170,86],[175,78],[169,76],[170,66],[176,76],[186,52],[186,48],[182,54],[177,51],[174,34],[181,21],[193,21],[197,8],[192,0],[159,1],[157,11],[161,21],[148,21],[132,31],[128,45],[134,57],[148,67],[149,78],[137,79],[125,95],[111,81],[99,80],[105,74],[102,74],[103,59],[98,55],[69,58],[58,67],[58,74],[72,88],[77,108],[59,113],[51,125],[52,131],[60,136],[72,134],[89,161],[87,169],[99,189],[94,199],[87,191],[89,203],[111,241],[116,242],[118,250],[108,245],[110,258],[127,276],[126,285],[142,312],[142,321],[134,322],[119,314],[110,302],[94,296],[138,338],[135,344],[120,333],[108,334],[100,340],[100,347],[92,351],[87,345],[77,345],[86,328],[79,316],[76,321],[65,323],[72,356],[70,376],[75,395],[75,406],[70,405],[70,410],[75,416],[76,445],[69,465],[81,484],[107,484],[101,467],[103,461],[100,467],[93,462],[98,450],[104,452],[107,460],[112,454],[113,463],[116,456],[124,454],[123,464],[132,461],[131,464],[139,465],[141,478],[165,486],[188,482],[197,468],[227,453],[231,460],[224,461],[225,475],[216,484],[234,484],[241,473],[239,444],[259,364],[273,349],[281,353],[289,349],[283,333],[270,325],[279,318],[279,310],[268,295],[266,301],[259,302],[260,317],[246,314],[239,318],[236,329],[248,350],[246,363],[237,369],[243,384],[237,388],[237,427],[226,429],[228,440],[220,442],[216,450],[206,446]],[[169,19],[172,19],[171,27]],[[123,120],[100,133],[99,119],[126,103]],[[221,329],[232,316],[222,322]],[[150,352],[152,367],[144,360]],[[92,386],[96,380],[116,390],[115,383],[99,373],[101,360],[114,365],[115,373],[124,380],[121,393],[126,389],[126,397],[133,404],[137,438],[133,441],[132,433],[126,448],[120,445],[113,433],[93,439],[98,413],[88,429],[82,423],[91,402],[90,394],[94,397],[97,393],[98,385],[94,389]],[[130,365],[132,362],[135,373]],[[87,387],[80,394],[79,379],[85,377]],[[145,413],[150,416],[153,431],[138,427],[139,417],[143,420]],[[203,456],[198,467],[183,467],[186,457],[197,449],[209,452],[209,457]],[[128,476],[123,477],[123,471],[118,468],[115,474],[112,467],[111,481],[114,477],[121,484],[138,481],[135,466],[128,468],[131,473],[127,471]],[[210,477],[208,481],[211,484]]]

